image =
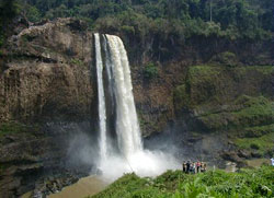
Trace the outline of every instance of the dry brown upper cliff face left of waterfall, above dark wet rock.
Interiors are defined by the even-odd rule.
[[[60,19],[13,35],[0,74],[0,119],[80,120],[90,115],[92,34]]]

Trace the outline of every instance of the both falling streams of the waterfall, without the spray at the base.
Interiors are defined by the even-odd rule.
[[[103,83],[103,61],[100,35],[94,34],[98,75],[99,121],[100,121],[100,154],[107,156],[106,109]],[[142,150],[140,129],[136,114],[130,69],[124,44],[119,37],[103,35],[103,49],[107,75],[109,93],[111,97],[110,112],[115,112],[115,131],[119,152],[124,156]],[[114,130],[114,129],[112,129]]]

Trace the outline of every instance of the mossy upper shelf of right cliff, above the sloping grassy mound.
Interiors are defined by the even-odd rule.
[[[225,66],[192,66],[182,84],[174,89],[175,104],[199,108],[229,104],[235,100],[236,90],[243,94],[263,94],[260,84],[271,82],[273,66],[248,66],[228,68]],[[239,86],[241,84],[241,86]],[[266,83],[270,86],[270,83]],[[270,91],[266,91],[270,94]]]

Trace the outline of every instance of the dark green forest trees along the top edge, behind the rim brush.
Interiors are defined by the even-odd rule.
[[[48,19],[77,16],[96,21],[119,13],[124,13],[123,15],[126,16],[127,12],[133,12],[155,21],[159,21],[159,19],[179,20],[176,25],[181,23],[181,26],[186,27],[186,35],[218,34],[219,36],[255,38],[265,36],[267,31],[274,31],[274,22],[271,20],[274,5],[269,0],[228,0],[221,2],[213,0],[212,3],[205,0],[118,2],[115,0],[52,0],[46,2],[27,0],[26,2],[26,13],[35,13],[26,15],[32,15],[32,18],[35,15],[34,21],[39,15]],[[39,11],[39,14],[36,14],[35,9]],[[124,18],[124,20],[126,19]],[[123,23],[123,21],[119,22]],[[134,24],[132,25],[134,26]],[[130,30],[130,33],[133,31],[133,28],[126,30]]]

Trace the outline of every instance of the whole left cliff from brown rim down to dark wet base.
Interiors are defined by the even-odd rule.
[[[75,137],[94,132],[93,42],[85,24],[58,19],[19,26],[0,61],[0,197],[18,197],[48,172],[61,173]]]

